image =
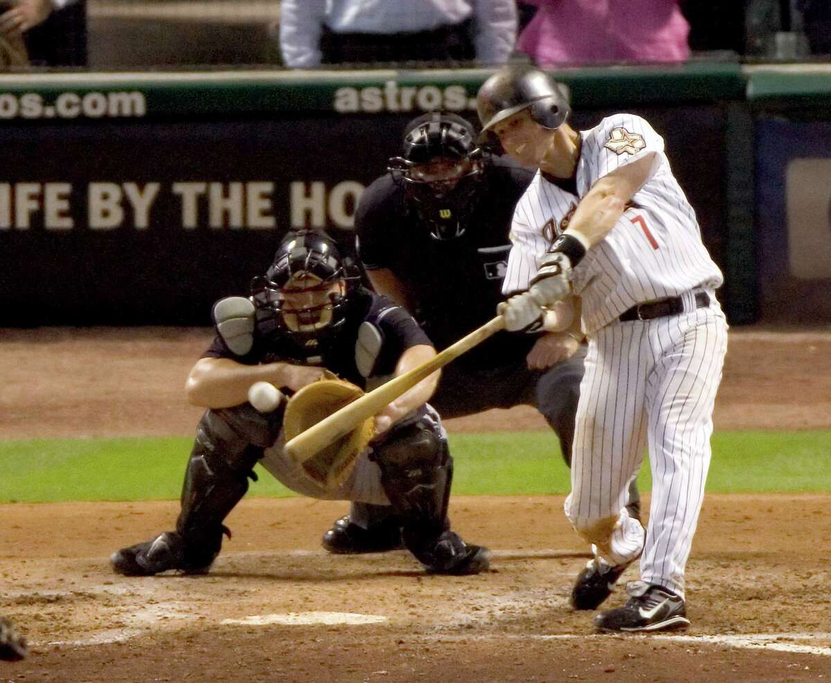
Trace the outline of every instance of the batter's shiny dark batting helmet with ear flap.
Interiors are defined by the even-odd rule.
[[[484,81],[476,96],[483,133],[526,108],[532,119],[549,129],[559,128],[570,113],[557,81],[533,66],[504,66]]]

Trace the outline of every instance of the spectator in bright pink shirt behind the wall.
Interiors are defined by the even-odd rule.
[[[539,66],[684,61],[687,23],[677,0],[524,0],[534,18],[517,49]]]

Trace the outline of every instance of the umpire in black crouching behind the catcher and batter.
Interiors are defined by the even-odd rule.
[[[494,315],[510,251],[514,204],[534,171],[476,145],[472,125],[434,112],[406,125],[400,157],[361,196],[357,250],[375,289],[404,305],[443,349]],[[500,333],[442,371],[430,399],[444,418],[534,405],[568,464],[585,345],[579,332]],[[639,512],[637,489],[630,507]],[[389,508],[352,504],[324,534],[330,553],[401,547]]]

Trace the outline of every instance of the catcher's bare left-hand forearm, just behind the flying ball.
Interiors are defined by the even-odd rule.
[[[282,362],[248,366],[230,358],[200,358],[190,370],[185,392],[193,405],[230,408],[248,400],[248,389],[254,382],[267,381],[297,391],[322,375],[323,368],[317,366]]]

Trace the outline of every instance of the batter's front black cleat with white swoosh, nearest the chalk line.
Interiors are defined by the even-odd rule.
[[[627,586],[627,593],[630,597],[623,607],[594,618],[597,631],[677,631],[690,625],[684,598],[667,588],[634,581]]]

